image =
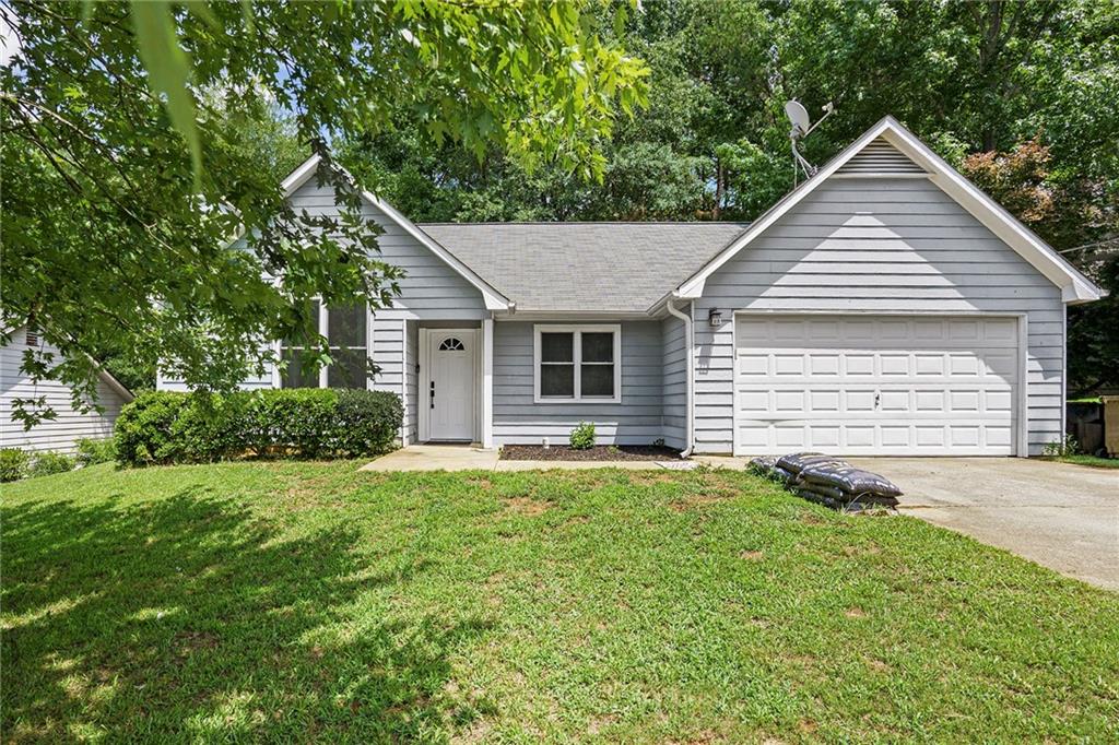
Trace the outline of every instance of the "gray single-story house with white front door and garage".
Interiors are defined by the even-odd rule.
[[[318,166],[284,183],[310,214],[336,208]],[[1065,308],[1101,295],[892,117],[749,225],[416,225],[365,198],[407,275],[321,330],[380,367],[405,444],[587,421],[698,453],[1038,454],[1064,431]],[[336,367],[244,386],[352,385]]]

